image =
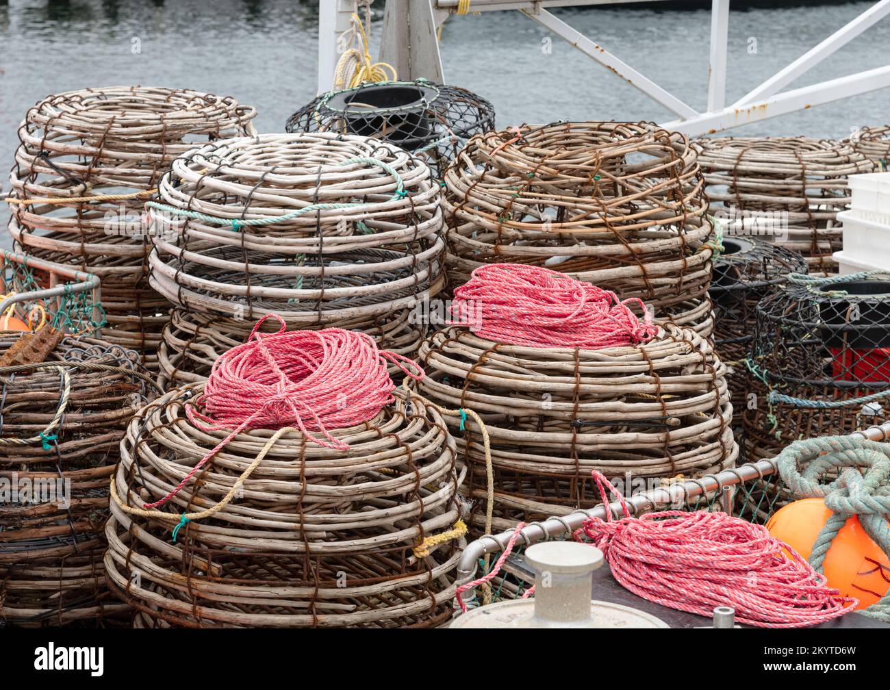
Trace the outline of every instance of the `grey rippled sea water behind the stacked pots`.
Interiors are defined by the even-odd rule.
[[[330,2],[331,0],[321,0]],[[377,2],[372,45],[383,12]],[[732,11],[727,101],[805,53],[870,2]],[[259,111],[261,132],[283,131],[316,85],[318,0],[9,0],[0,2],[0,168],[12,165],[16,126],[50,93],[97,85],[168,85],[231,94]],[[557,9],[571,26],[704,109],[707,10]],[[548,40],[549,39],[549,40]],[[872,27],[794,86],[886,64],[890,20]],[[552,50],[545,49],[550,45]],[[139,52],[134,52],[138,46]],[[751,47],[756,46],[756,52]],[[520,12],[452,17],[441,35],[449,83],[489,99],[498,126],[554,119],[648,119],[672,114]],[[734,130],[841,137],[890,121],[890,93],[867,93]],[[5,160],[4,164],[2,161]],[[5,227],[5,208],[0,223]],[[8,238],[2,240],[8,245]]]

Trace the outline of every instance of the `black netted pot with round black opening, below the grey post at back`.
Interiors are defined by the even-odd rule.
[[[457,86],[417,79],[322,93],[297,110],[285,129],[372,136],[417,154],[441,177],[466,140],[494,126],[489,101]]]

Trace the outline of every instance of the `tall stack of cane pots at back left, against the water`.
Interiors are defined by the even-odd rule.
[[[150,369],[169,304],[149,286],[142,205],[174,158],[250,134],[254,116],[231,97],[126,86],[49,96],[19,127],[12,238],[26,253],[99,276],[103,337]]]

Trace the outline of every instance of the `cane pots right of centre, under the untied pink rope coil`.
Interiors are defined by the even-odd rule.
[[[428,337],[419,361],[422,394],[473,410],[488,429],[491,498],[479,426],[446,418],[477,534],[594,507],[593,469],[660,481],[733,467],[738,455],[724,365],[692,329],[591,350],[505,345],[453,327]]]

